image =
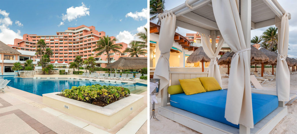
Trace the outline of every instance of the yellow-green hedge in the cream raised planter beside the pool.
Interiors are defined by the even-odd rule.
[[[109,104],[110,100],[119,100],[130,94],[128,88],[106,86],[106,85],[89,85],[89,86],[73,86],[71,89],[62,90],[62,95],[67,98],[84,101],[92,104],[95,100],[102,100]]]

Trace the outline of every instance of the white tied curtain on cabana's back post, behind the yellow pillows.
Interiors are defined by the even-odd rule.
[[[223,46],[224,39],[222,37],[219,38],[219,43],[215,52],[211,48],[209,35],[202,34],[201,40],[202,40],[202,47],[205,54],[211,59],[208,66],[208,70],[206,71],[208,72],[208,77],[214,77],[218,81],[219,85],[222,87],[222,79],[221,79],[221,73],[217,62],[217,56]]]

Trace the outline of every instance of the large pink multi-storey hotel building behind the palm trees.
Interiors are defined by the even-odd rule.
[[[89,56],[94,56],[96,64],[99,67],[107,66],[107,54],[96,56],[97,52],[93,51],[96,48],[97,41],[101,36],[105,36],[105,32],[98,32],[94,26],[87,27],[85,25],[78,26],[76,28],[68,28],[64,32],[56,32],[56,35],[36,35],[36,34],[24,34],[23,39],[15,39],[13,45],[10,47],[17,50],[35,51],[36,43],[40,39],[43,39],[46,43],[46,47],[52,49],[53,56],[50,57],[50,61],[53,62],[73,62],[75,56],[81,56],[82,59],[87,59]],[[115,38],[111,36],[111,38]],[[122,44],[121,52],[123,52],[128,46],[126,43]],[[120,57],[127,57],[129,53],[110,53],[111,62],[115,62]],[[147,57],[147,56],[145,56]],[[39,61],[40,57],[35,56],[35,60]]]

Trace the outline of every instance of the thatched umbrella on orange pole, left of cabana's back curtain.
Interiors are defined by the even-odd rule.
[[[199,47],[188,58],[187,63],[202,62],[202,72],[204,72],[204,62],[210,62],[210,58],[205,54],[203,47]]]

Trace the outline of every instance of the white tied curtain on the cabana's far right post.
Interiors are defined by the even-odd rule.
[[[290,71],[286,62],[289,46],[289,21],[287,12],[283,15],[280,32],[280,40],[277,49],[277,96],[279,101],[289,101],[290,96]]]

